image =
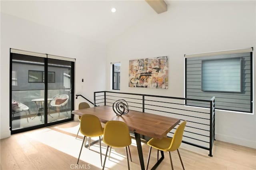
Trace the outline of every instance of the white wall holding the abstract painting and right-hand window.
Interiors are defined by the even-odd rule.
[[[141,21],[108,44],[107,67],[110,62],[121,62],[121,92],[184,97],[184,54],[248,47],[254,47],[255,52],[255,1],[171,1],[169,4],[168,12]],[[165,55],[169,57],[168,89],[128,87],[130,59]],[[107,70],[110,75],[110,69]],[[110,79],[107,81],[110,90]],[[216,139],[256,148],[255,114],[255,107],[254,115],[216,111]]]

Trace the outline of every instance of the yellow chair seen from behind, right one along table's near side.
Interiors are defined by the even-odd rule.
[[[127,146],[132,144],[132,137],[130,136],[129,128],[126,123],[121,121],[108,121],[104,128],[103,142],[107,145],[107,150],[102,170],[104,170],[105,167],[109,146],[117,148],[125,147],[128,169],[130,170]]]

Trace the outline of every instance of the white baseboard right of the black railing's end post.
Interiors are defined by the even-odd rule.
[[[234,136],[227,136],[227,135],[217,134],[217,133],[215,133],[215,139],[223,142],[238,144],[241,146],[246,146],[246,147],[256,149],[256,141],[252,141],[252,140],[245,140],[243,138],[236,138]]]

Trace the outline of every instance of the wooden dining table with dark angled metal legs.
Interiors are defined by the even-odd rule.
[[[180,123],[180,119],[131,110],[126,115],[117,116],[112,107],[105,105],[75,110],[72,111],[72,114],[79,116],[84,114],[95,115],[102,123],[106,123],[108,121],[122,121],[126,123],[129,130],[134,132],[142,170],[145,169],[145,165],[140,135],[161,139],[162,137],[166,136],[166,134],[170,132],[172,128]],[[164,159],[164,152],[161,151],[161,155],[162,157],[158,160],[158,162],[156,162],[152,169],[155,169]]]

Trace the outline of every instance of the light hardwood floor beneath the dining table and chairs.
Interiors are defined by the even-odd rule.
[[[100,165],[99,144],[83,148],[79,166],[76,165],[82,135],[75,139],[79,122],[73,121],[20,134],[0,141],[0,169],[1,170],[67,170],[67,169],[102,169]],[[140,170],[136,142],[132,140],[130,146],[132,170]],[[149,146],[142,143],[144,162],[148,157]],[[208,156],[208,151],[194,146],[182,144],[180,154],[186,170],[255,170],[256,150],[244,146],[230,144],[216,140],[214,142],[213,157]],[[102,158],[106,153],[106,145],[102,142]],[[126,170],[127,162],[124,148],[113,148],[110,160],[106,161],[106,170]],[[156,150],[152,149],[150,165],[156,161]],[[182,166],[177,152],[172,152],[175,170]],[[158,170],[169,170],[170,158],[165,153],[164,161]]]

